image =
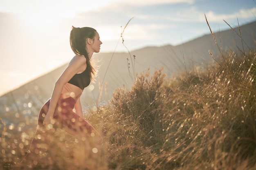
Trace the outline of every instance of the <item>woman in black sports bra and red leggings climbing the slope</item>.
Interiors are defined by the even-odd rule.
[[[95,29],[72,26],[70,46],[76,55],[58,78],[51,99],[40,110],[38,128],[29,154],[24,159],[27,160],[27,166],[29,166],[28,161],[37,164],[37,160],[33,159],[38,158],[41,151],[48,149],[56,128],[62,128],[80,139],[84,137],[84,139],[94,138],[100,141],[99,133],[83,119],[80,97],[83,89],[90,84],[95,75],[90,59],[93,53],[100,51],[101,44],[99,33]]]

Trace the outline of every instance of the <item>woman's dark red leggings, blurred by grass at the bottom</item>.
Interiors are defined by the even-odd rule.
[[[64,95],[61,95],[53,115],[55,122],[52,126],[45,127],[43,125],[43,120],[45,114],[48,112],[49,104],[50,99],[40,110],[38,116],[38,128],[32,139],[29,152],[22,160],[24,167],[32,167],[35,165],[35,161],[38,162],[45,158],[41,153],[49,150],[49,146],[54,143],[53,141],[58,140],[58,138],[54,137],[56,128],[61,128],[65,132],[75,136],[76,139],[81,139],[80,141],[82,144],[86,144],[88,148],[100,146],[101,135],[99,135],[87,121],[73,111],[75,101],[72,97],[65,98]],[[56,142],[58,143],[58,141]],[[44,161],[42,167],[45,166],[45,162],[47,163],[47,161]]]

